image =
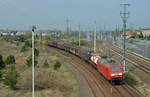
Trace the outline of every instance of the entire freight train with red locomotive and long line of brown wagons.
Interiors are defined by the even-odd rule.
[[[115,60],[111,58],[102,58],[100,55],[96,54],[92,50],[79,46],[72,46],[64,42],[52,42],[48,45],[80,57],[86,62],[91,63],[92,66],[97,69],[97,71],[100,72],[111,83],[122,84],[123,66],[116,63]]]

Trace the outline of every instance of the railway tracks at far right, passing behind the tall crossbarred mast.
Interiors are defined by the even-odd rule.
[[[122,50],[118,47],[109,46],[111,51],[117,53],[119,56],[122,57]],[[126,60],[129,63],[132,63],[134,66],[139,68],[140,70],[144,71],[147,74],[150,74],[150,61],[147,61],[145,59],[141,59],[138,55],[135,55],[133,53],[127,52],[126,53]]]

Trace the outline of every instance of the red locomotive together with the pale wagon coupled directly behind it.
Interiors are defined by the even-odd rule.
[[[123,67],[118,65],[113,59],[101,58],[95,53],[89,54],[89,59],[95,65],[94,67],[111,83],[122,83]]]

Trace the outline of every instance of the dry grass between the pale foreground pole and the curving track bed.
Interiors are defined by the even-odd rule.
[[[36,47],[40,50],[38,57],[39,68],[35,69],[36,97],[78,97],[78,85],[72,73],[63,64],[57,71],[53,70],[53,64],[63,55],[47,46]],[[43,68],[45,60],[50,64],[49,68]],[[61,62],[62,63],[62,62]]]

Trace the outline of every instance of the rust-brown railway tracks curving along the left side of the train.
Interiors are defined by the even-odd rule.
[[[96,87],[98,88],[99,92],[101,92],[103,97],[142,97],[142,95],[139,94],[133,88],[131,88],[129,90],[127,88],[127,84],[124,84],[123,86],[122,85],[112,86],[94,68],[91,68],[92,65],[88,65],[86,62],[84,62],[77,56],[69,54],[60,49],[57,49],[57,50],[60,53],[72,58],[72,60],[67,60],[67,59],[63,59],[63,60],[65,60],[66,62],[71,64],[74,68],[76,68],[78,70],[78,72],[81,72],[81,70],[83,70],[87,74],[87,75],[82,74],[83,77],[89,76],[91,78],[91,80],[94,82],[94,84],[96,85]],[[84,79],[87,79],[87,78],[84,78]],[[94,92],[92,85],[89,87],[91,87],[91,90],[93,91],[93,96],[95,95],[94,97],[99,97],[99,95],[96,95],[96,93]]]

